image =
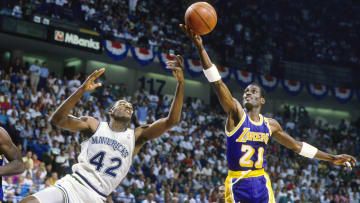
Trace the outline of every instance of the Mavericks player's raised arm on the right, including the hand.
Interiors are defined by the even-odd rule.
[[[172,70],[177,81],[175,97],[171,104],[170,112],[167,117],[161,118],[149,126],[141,126],[136,129],[136,152],[146,141],[160,137],[180,122],[184,98],[184,59],[177,55],[176,61],[168,63],[168,68]]]

